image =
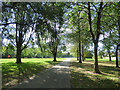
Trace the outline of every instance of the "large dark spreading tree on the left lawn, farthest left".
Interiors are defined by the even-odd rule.
[[[3,37],[9,39],[17,48],[16,63],[21,63],[21,53],[32,39],[34,14],[27,3],[3,3],[2,8]],[[28,32],[31,32],[29,36]]]

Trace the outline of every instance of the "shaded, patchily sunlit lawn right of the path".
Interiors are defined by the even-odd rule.
[[[112,62],[107,59],[99,60],[99,69],[102,74],[94,73],[93,68],[93,59],[86,59],[83,63],[71,59],[72,87],[120,88],[120,68],[115,67],[115,60]]]

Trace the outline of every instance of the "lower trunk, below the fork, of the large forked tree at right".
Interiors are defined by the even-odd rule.
[[[98,50],[98,43],[94,43],[94,55],[95,55],[94,69],[95,69],[95,73],[100,73],[98,66],[97,50]]]

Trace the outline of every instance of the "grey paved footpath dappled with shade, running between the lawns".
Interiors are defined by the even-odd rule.
[[[67,58],[13,88],[71,88],[70,74],[70,58]]]

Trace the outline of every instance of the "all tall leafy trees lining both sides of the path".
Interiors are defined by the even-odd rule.
[[[3,3],[2,8],[3,38],[9,39],[16,47],[16,63],[21,63],[22,51],[35,44],[42,52],[49,50],[56,61],[58,49],[65,46],[61,39],[67,36],[67,41],[72,41],[77,50],[79,63],[85,59],[85,49],[94,45],[94,70],[100,73],[98,43],[102,42],[109,57],[110,49],[115,47],[118,67],[120,2],[9,2]],[[66,35],[66,28],[71,33]],[[102,40],[100,36],[103,36]]]

